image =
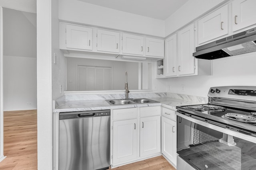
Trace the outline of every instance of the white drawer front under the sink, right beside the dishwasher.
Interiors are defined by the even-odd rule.
[[[137,108],[113,110],[113,120],[132,119],[136,117],[137,117]]]

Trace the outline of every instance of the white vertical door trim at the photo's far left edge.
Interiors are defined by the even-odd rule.
[[[3,111],[3,8],[0,6],[0,160],[4,159],[4,111]],[[0,161],[1,162],[1,161]]]

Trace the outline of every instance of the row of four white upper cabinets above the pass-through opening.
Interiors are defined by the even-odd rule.
[[[157,61],[164,58],[164,39],[60,23],[60,49]]]

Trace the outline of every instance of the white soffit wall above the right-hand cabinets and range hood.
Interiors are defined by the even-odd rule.
[[[165,36],[174,33],[184,25],[228,0],[189,0],[165,20]]]

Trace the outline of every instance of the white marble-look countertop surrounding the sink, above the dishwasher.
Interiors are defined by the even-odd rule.
[[[176,106],[186,106],[194,104],[202,104],[200,102],[186,101],[170,97],[148,98],[160,103],[147,104],[126,104],[126,105],[110,105],[106,100],[76,100],[62,101],[58,104],[53,112],[71,112],[71,111],[90,111],[90,110],[105,110],[105,109],[123,109],[132,107],[147,107],[147,106],[164,106],[168,109],[176,110]]]

